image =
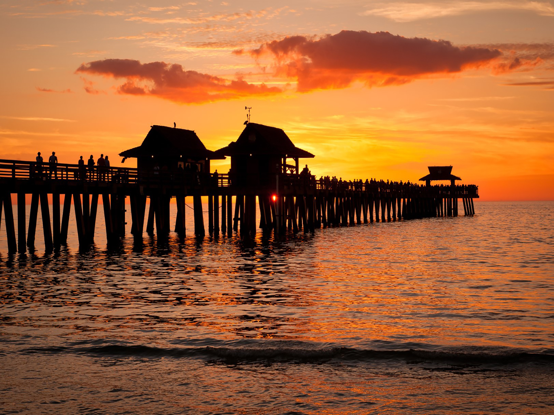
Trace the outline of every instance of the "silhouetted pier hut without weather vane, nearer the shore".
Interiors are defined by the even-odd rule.
[[[224,159],[222,155],[208,150],[194,131],[189,129],[152,126],[139,147],[119,153],[123,161],[137,158],[137,168],[152,171],[177,170],[179,165],[200,173],[209,173],[209,161]]]

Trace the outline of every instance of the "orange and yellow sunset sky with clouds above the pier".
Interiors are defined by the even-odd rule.
[[[453,165],[481,200],[554,200],[552,2],[8,0],[0,15],[0,158],[119,166],[173,122],[216,150],[248,106],[317,177]]]

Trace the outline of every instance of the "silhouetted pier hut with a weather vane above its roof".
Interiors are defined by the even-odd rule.
[[[315,157],[296,147],[282,129],[253,122],[247,123],[237,141],[216,153],[231,157],[232,177],[243,185],[265,185],[273,183],[277,174],[299,174],[299,159]]]

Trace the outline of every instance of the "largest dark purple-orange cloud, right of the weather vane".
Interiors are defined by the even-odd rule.
[[[420,77],[486,66],[501,56],[497,49],[363,30],[342,30],[321,38],[286,37],[249,53],[256,59],[273,59],[275,75],[296,80],[299,91],[343,88],[355,81],[368,86],[401,85]]]

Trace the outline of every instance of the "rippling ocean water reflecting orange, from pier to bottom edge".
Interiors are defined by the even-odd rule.
[[[554,203],[475,210],[17,255],[2,221],[0,412],[554,413]]]

